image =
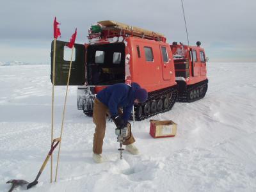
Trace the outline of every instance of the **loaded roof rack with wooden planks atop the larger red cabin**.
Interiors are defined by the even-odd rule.
[[[148,31],[146,29],[137,28],[135,26],[129,26],[121,22],[115,22],[113,20],[103,20],[97,22],[88,31],[88,38],[113,38],[114,36],[136,36],[140,38],[146,38],[149,40],[156,40],[166,42],[166,38],[161,33],[154,31]]]

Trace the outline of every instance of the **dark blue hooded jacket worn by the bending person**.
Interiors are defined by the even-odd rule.
[[[97,93],[96,97],[108,106],[111,116],[118,115],[118,108],[123,108],[123,119],[127,122],[131,116],[135,90],[138,88],[140,88],[138,83],[132,83],[131,86],[125,83],[113,84]]]

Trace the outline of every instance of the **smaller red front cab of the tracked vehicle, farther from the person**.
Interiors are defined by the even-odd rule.
[[[201,43],[188,46],[173,42],[170,47],[173,52],[175,76],[179,90],[179,102],[193,102],[202,99],[207,92],[208,79],[206,76],[205,52]]]

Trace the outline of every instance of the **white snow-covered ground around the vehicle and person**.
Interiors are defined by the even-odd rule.
[[[255,71],[256,63],[209,63],[204,99],[153,117],[176,122],[177,136],[153,139],[149,119],[136,122],[138,156],[118,159],[108,122],[102,164],[92,160],[92,118],[77,110],[70,87],[58,182],[49,183],[49,161],[29,191],[256,191]],[[52,86],[49,65],[2,66],[0,74],[0,191],[8,191],[9,179],[33,181],[49,152]],[[55,91],[57,138],[65,86]]]

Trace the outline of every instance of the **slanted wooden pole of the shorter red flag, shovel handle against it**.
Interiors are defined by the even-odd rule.
[[[69,70],[68,70],[68,81],[67,81],[67,89],[66,89],[66,95],[65,95],[65,103],[64,103],[63,115],[62,115],[62,122],[61,122],[60,139],[62,138],[62,132],[63,132],[63,123],[64,123],[64,117],[65,117],[65,109],[66,109],[66,102],[67,102],[67,93],[68,93],[68,85],[69,85],[69,79],[70,79],[70,72],[71,72],[71,67],[72,67],[73,52],[74,52],[74,45],[73,45],[73,47],[72,47],[71,58],[70,58],[70,65],[69,65]],[[58,164],[59,164],[59,161],[60,161],[60,147],[61,147],[61,140],[60,140],[59,151],[58,151],[58,158],[57,158],[57,165],[56,165],[56,173],[55,173],[55,182],[57,181],[57,175],[58,175]]]

